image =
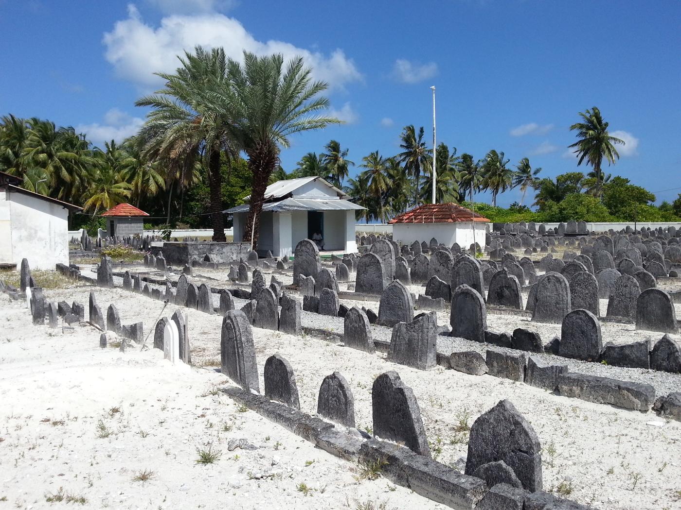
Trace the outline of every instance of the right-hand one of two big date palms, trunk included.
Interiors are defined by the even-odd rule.
[[[253,173],[244,239],[253,239],[254,249],[265,189],[279,165],[280,149],[289,147],[291,135],[340,123],[319,115],[329,106],[326,97],[319,97],[328,84],[313,82],[311,72],[302,57],[292,58],[284,68],[281,54],[244,52],[243,64],[231,58],[227,63],[229,87],[212,90],[216,106],[230,114],[229,132],[244,148]]]

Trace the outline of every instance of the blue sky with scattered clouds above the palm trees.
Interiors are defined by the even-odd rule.
[[[569,125],[596,105],[628,141],[607,170],[656,192],[681,187],[680,20],[676,0],[0,0],[0,114],[76,126],[101,145],[136,131],[134,101],[183,48],[302,54],[347,124],[294,137],[287,171],[332,138],[355,163],[396,154],[406,124],[430,145],[435,85],[438,142],[503,151],[511,165],[527,156],[549,177],[577,169]]]

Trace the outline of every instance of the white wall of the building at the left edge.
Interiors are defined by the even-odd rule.
[[[10,193],[12,256],[31,269],[54,269],[69,263],[69,211],[55,203],[22,193]]]

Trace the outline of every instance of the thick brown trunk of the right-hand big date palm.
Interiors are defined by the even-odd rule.
[[[253,237],[253,250],[255,250],[260,230],[262,205],[265,201],[265,190],[270,175],[279,163],[279,157],[276,154],[276,147],[269,141],[257,143],[255,147],[246,152],[249,156],[249,169],[253,173],[253,188],[251,190],[251,207],[249,208],[243,239],[248,240]]]

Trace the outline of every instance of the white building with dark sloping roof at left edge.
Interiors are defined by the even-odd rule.
[[[80,207],[20,188],[0,172],[0,266],[29,261],[31,269],[69,263],[69,211]]]

